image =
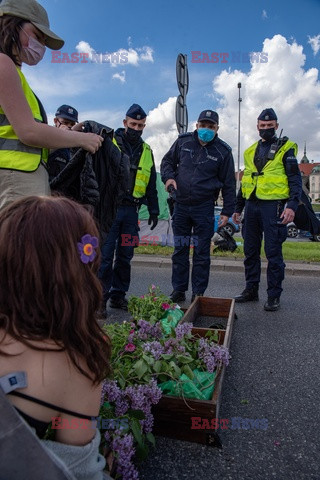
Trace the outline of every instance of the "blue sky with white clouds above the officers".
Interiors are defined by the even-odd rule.
[[[125,111],[140,103],[150,115],[144,138],[157,165],[177,136],[175,64],[187,54],[189,130],[201,110],[220,114],[220,136],[237,156],[238,81],[242,82],[241,153],[256,139],[260,110],[277,109],[284,133],[307,141],[310,159],[320,161],[320,2],[225,0],[40,0],[52,29],[64,40],[61,52],[122,52],[129,61],[52,63],[26,67],[30,84],[52,117],[68,103],[80,119],[121,126]],[[268,51],[269,50],[269,51]],[[193,63],[193,51],[228,53],[226,63]],[[264,52],[268,62],[232,61],[235,52]],[[62,54],[59,57],[62,59]],[[258,58],[258,57],[256,57]],[[89,118],[90,117],[90,118]],[[295,117],[295,118],[294,118]],[[242,162],[241,162],[242,163]]]

